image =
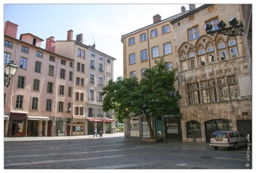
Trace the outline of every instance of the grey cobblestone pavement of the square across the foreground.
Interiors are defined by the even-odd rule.
[[[247,160],[247,153],[250,161]],[[4,169],[247,169],[252,151],[213,150],[208,143],[141,142],[123,134],[4,138]]]

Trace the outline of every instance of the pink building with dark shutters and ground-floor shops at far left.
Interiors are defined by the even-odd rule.
[[[17,28],[5,22],[4,66],[14,61],[18,70],[4,87],[4,136],[69,136],[74,61],[40,48],[43,39],[30,33],[16,39]]]

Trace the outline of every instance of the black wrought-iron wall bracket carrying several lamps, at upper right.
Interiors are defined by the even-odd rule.
[[[238,22],[238,20],[233,17],[229,21],[230,27],[226,27],[226,23],[224,21],[220,21],[217,26],[219,29],[213,30],[213,25],[211,23],[207,23],[205,25],[205,30],[207,31],[207,34],[214,35],[214,34],[221,34],[221,35],[230,35],[230,36],[237,36],[237,35],[243,35],[243,24],[242,22]]]

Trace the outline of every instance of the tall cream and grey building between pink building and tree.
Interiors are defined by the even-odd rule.
[[[72,57],[74,62],[73,135],[92,135],[94,130],[114,132],[114,111],[103,112],[102,87],[114,78],[115,58],[82,43],[82,34],[73,40],[73,30],[67,41],[51,43],[56,53]]]

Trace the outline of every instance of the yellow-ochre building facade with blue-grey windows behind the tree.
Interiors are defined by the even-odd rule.
[[[191,5],[190,10],[195,6]],[[176,68],[174,54],[174,27],[170,21],[187,13],[182,6],[181,13],[161,20],[159,14],[153,16],[153,24],[137,29],[126,35],[121,35],[123,44],[123,77],[141,80],[143,71],[154,67],[154,61],[164,56],[170,69]],[[178,83],[176,85],[178,89]],[[154,119],[154,131],[155,123]],[[181,138],[181,116],[162,116],[161,125],[163,138]],[[125,136],[148,138],[148,123],[146,119],[132,117],[125,120]]]

